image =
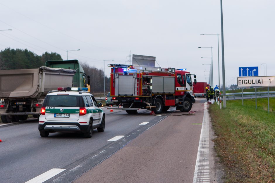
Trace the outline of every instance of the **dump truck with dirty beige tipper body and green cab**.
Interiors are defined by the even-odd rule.
[[[38,69],[1,70],[0,116],[4,123],[39,118],[45,96],[58,87],[87,87],[87,77],[77,60],[46,61]]]

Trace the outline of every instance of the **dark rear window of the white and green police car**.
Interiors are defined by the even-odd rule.
[[[79,107],[78,96],[49,95],[47,106],[52,107]]]

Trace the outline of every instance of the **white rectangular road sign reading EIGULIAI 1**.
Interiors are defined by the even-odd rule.
[[[275,86],[275,76],[238,77],[238,87],[272,87]]]

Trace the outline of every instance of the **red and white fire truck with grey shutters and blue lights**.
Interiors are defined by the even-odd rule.
[[[117,107],[107,109],[136,114],[137,110],[147,108],[160,114],[170,106],[188,112],[195,103],[192,74],[184,69],[155,67],[155,57],[142,55],[133,55],[131,65],[108,66],[111,67],[111,97]]]

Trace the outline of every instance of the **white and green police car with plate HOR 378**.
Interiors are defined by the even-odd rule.
[[[41,137],[52,132],[81,132],[92,137],[93,129],[104,132],[105,113],[99,108],[87,88],[65,88],[49,91],[41,108],[39,127]]]

